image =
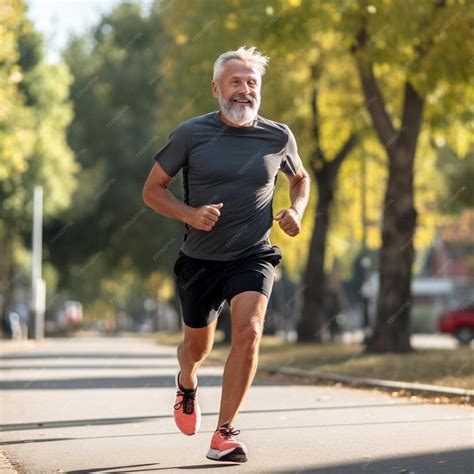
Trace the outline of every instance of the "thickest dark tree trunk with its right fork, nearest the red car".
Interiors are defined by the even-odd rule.
[[[405,91],[402,131],[389,155],[380,250],[380,290],[374,332],[366,349],[370,352],[408,352],[410,345],[413,239],[417,212],[413,199],[416,141],[423,100],[409,83]],[[405,128],[403,128],[405,127]]]

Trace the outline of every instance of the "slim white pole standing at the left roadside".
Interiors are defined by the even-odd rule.
[[[33,255],[32,255],[32,309],[34,338],[44,337],[45,282],[42,279],[43,244],[43,188],[35,186],[33,193]]]

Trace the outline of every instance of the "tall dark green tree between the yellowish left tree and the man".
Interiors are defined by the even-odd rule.
[[[47,227],[46,240],[61,287],[74,286],[87,299],[93,290],[101,295],[100,282],[116,272],[147,276],[169,266],[178,244],[179,224],[160,219],[142,201],[160,128],[154,119],[159,31],[156,16],[123,3],[64,51],[74,75],[68,141],[82,171],[74,206]]]

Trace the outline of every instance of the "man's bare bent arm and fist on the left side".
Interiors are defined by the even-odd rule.
[[[168,190],[172,177],[156,163],[143,187],[143,201],[155,212],[184,222],[196,229],[210,231],[221,215],[222,203],[200,207],[188,206]]]

